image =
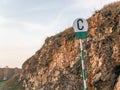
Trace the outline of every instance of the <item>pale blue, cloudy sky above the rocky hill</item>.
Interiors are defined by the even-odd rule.
[[[22,67],[47,37],[119,0],[0,0],[0,67]]]

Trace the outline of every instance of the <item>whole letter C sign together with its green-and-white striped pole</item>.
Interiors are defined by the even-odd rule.
[[[88,88],[87,88],[87,77],[86,77],[85,65],[84,65],[84,50],[83,50],[83,46],[82,46],[82,39],[87,38],[88,23],[83,18],[77,18],[73,22],[73,29],[75,31],[76,38],[80,39],[82,76],[83,76],[84,90],[88,90]]]

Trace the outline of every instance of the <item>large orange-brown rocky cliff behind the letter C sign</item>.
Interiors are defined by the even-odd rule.
[[[89,90],[120,89],[120,2],[88,19],[83,40]],[[79,40],[69,28],[45,40],[22,67],[26,90],[83,90]]]

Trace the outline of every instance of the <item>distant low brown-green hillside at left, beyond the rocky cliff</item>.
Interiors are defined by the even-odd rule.
[[[24,90],[22,87],[21,69],[0,68],[0,90]]]

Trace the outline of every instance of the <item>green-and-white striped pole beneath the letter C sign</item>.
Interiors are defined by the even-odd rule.
[[[87,78],[86,78],[86,72],[85,72],[85,65],[84,65],[84,51],[83,51],[81,39],[80,39],[80,49],[81,49],[82,77],[83,77],[83,83],[84,83],[84,90],[88,90],[87,89]]]

